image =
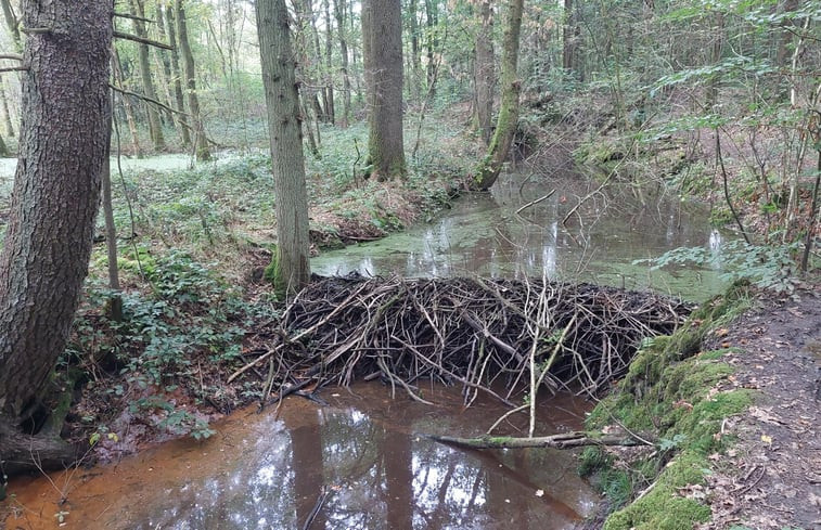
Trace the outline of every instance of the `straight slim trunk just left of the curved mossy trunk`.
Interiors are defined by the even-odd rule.
[[[476,124],[485,145],[490,143],[493,128],[493,87],[496,59],[493,56],[493,11],[490,0],[479,4],[479,26],[476,33]]]

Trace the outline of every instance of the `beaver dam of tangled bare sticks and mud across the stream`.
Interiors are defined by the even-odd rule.
[[[419,401],[420,380],[459,385],[465,404],[487,392],[512,405],[526,385],[593,393],[626,371],[643,338],[671,333],[691,309],[538,279],[324,277],[257,331],[253,359],[229,382],[256,374],[264,402],[359,379]]]

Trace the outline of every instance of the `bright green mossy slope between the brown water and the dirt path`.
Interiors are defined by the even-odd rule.
[[[618,425],[657,440],[652,452],[629,457],[598,448],[582,453],[580,471],[592,475],[618,508],[605,530],[690,530],[709,518],[703,484],[711,455],[728,443],[721,424],[743,412],[752,395],[719,390],[732,374],[722,360],[730,350],[701,351],[701,345],[739,314],[745,299],[745,287],[733,286],[674,335],[647,340],[616,390],[588,418],[589,428]]]

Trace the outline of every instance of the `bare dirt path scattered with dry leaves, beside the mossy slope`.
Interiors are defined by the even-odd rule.
[[[727,385],[754,389],[754,406],[729,418],[737,438],[715,455],[698,530],[821,529],[821,287],[759,302],[715,347],[733,347]]]

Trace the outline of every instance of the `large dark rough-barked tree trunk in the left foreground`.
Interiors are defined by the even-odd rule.
[[[103,0],[25,5],[25,27],[49,30],[26,41],[25,120],[0,254],[0,460],[30,464],[34,448],[54,464],[70,448],[35,441],[21,425],[40,408],[88,272],[111,125],[113,13]]]

